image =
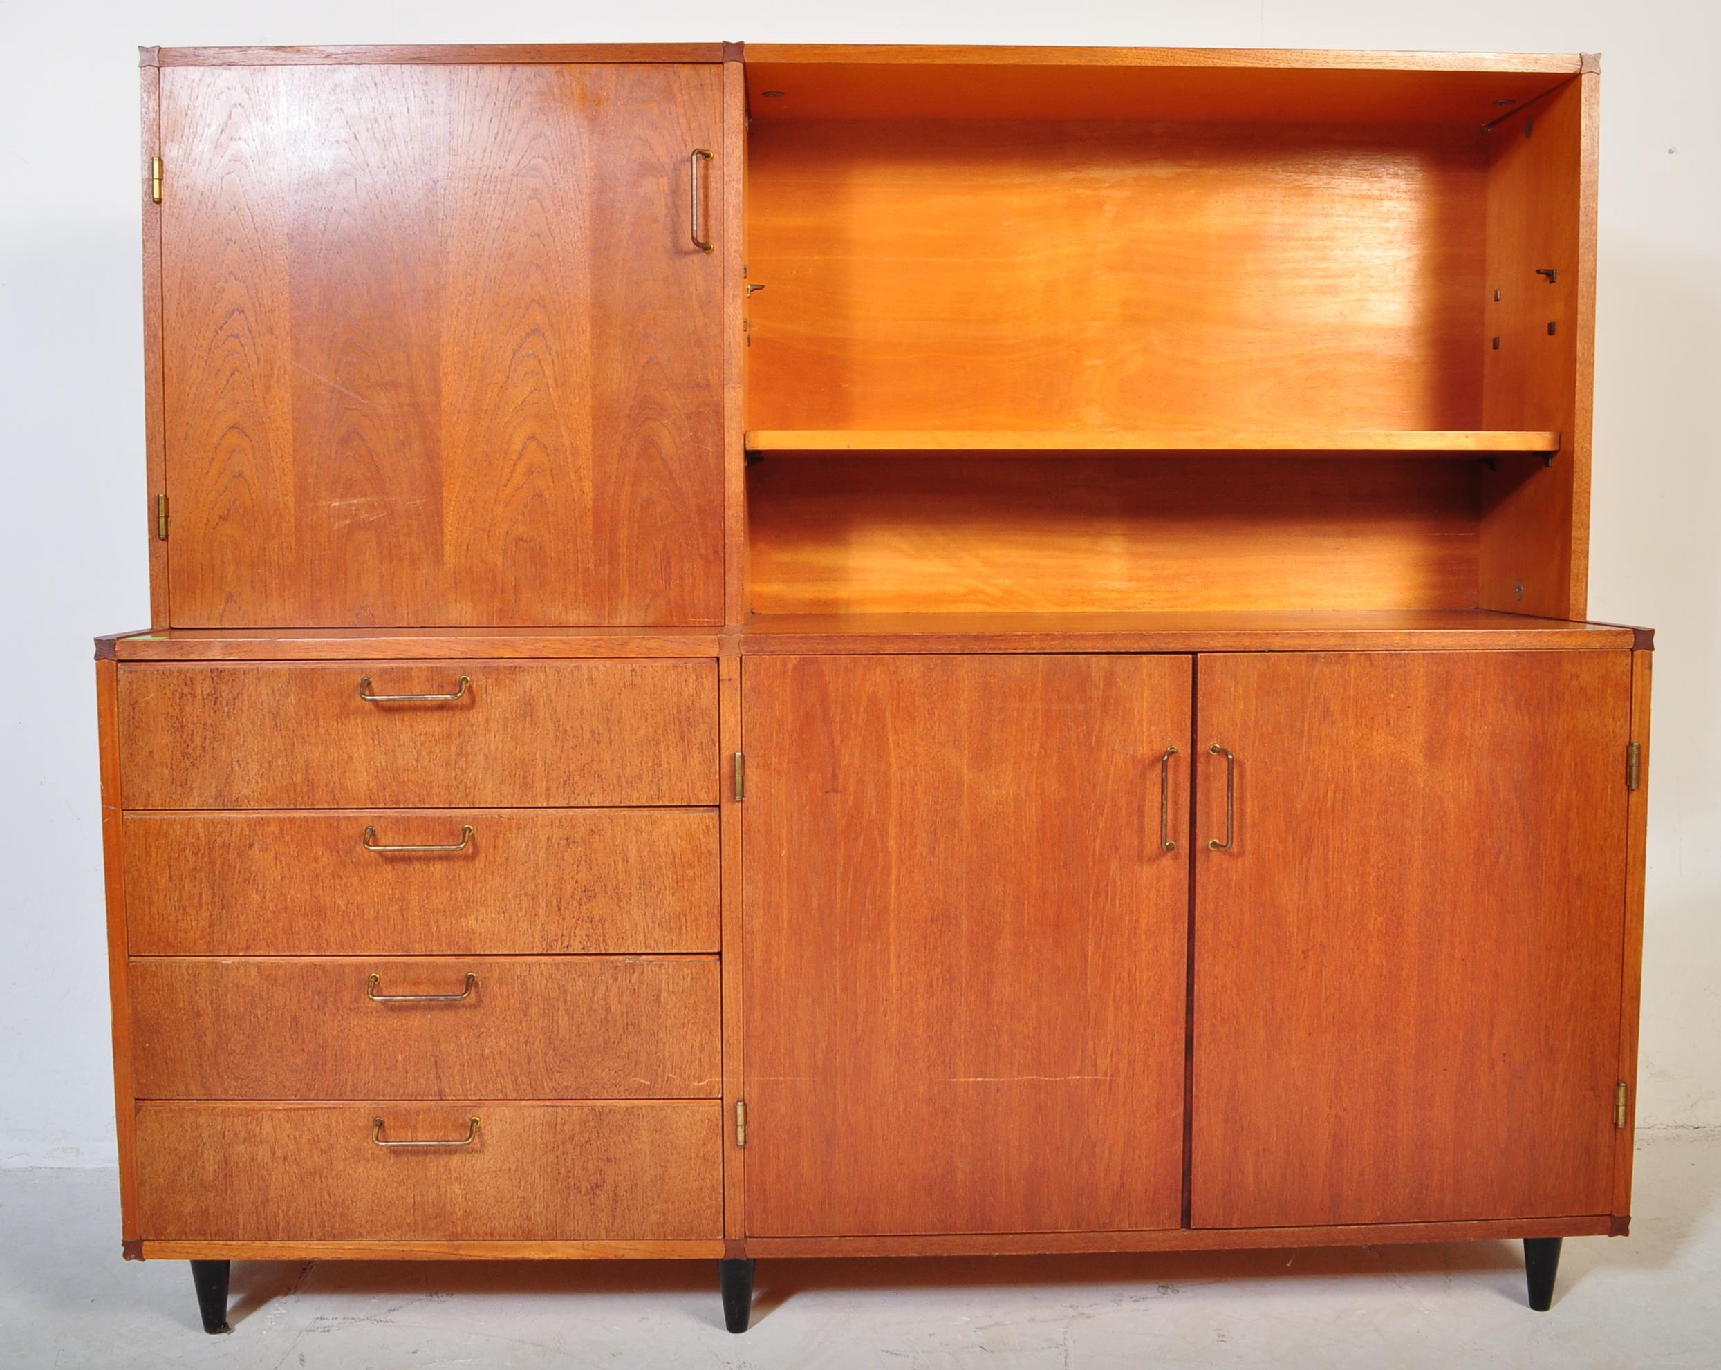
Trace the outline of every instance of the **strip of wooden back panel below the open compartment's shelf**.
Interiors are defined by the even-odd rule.
[[[1477,480],[1416,460],[766,460],[752,609],[1468,609]]]

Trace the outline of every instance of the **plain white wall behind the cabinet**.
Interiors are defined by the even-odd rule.
[[[1659,630],[1638,1119],[1721,1126],[1721,9],[1704,0],[133,0],[21,5],[7,29],[0,1165],[114,1160],[89,639],[148,623],[138,43],[738,38],[1601,52],[1590,616]],[[1451,859],[1465,859],[1463,835]]]

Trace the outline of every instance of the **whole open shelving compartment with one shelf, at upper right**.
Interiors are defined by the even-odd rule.
[[[1582,618],[1590,59],[747,55],[756,616]]]

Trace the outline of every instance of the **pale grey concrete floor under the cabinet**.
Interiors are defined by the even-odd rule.
[[[0,1172],[0,1365],[1721,1367],[1721,1136],[1638,1139],[1630,1237],[1566,1241],[1551,1313],[1516,1243],[998,1260],[761,1262],[723,1330],[714,1262],[236,1263],[207,1337],[184,1262],[122,1262],[102,1170]]]

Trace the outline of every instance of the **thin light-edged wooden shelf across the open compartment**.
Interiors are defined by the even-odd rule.
[[[1346,456],[1490,456],[1496,453],[1559,451],[1558,432],[1489,429],[1310,432],[1292,429],[1095,430],[1095,429],[756,429],[747,434],[756,453],[1248,453]]]

